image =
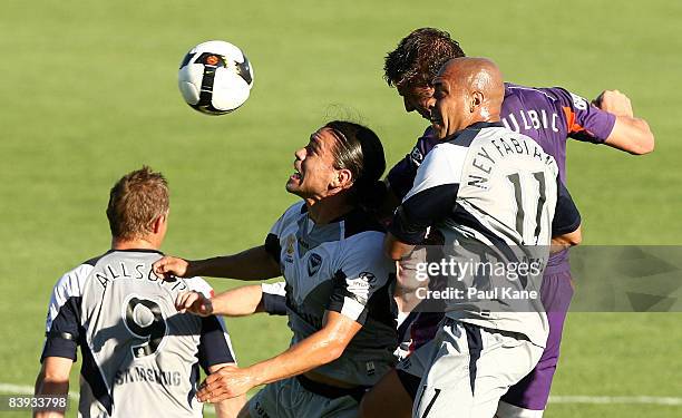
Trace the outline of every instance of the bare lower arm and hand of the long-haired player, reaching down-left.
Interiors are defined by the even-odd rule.
[[[362,329],[339,312],[327,311],[322,329],[270,360],[240,369],[224,367],[206,378],[196,393],[203,402],[217,402],[246,393],[260,385],[298,376],[337,360]]]

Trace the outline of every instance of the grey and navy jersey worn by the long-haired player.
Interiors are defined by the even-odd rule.
[[[341,357],[316,373],[372,386],[396,361],[394,268],[383,255],[384,235],[359,210],[316,225],[303,202],[291,206],[267,235],[265,247],[286,282],[280,293],[286,295],[292,344],[322,329],[328,310],[362,324]]]

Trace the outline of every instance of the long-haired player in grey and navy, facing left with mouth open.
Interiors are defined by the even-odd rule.
[[[202,261],[165,257],[155,268],[178,276],[284,276],[280,293],[293,331],[289,350],[249,368],[222,369],[206,379],[199,399],[220,400],[266,383],[246,416],[357,417],[366,389],[396,362],[394,264],[382,251],[383,229],[369,212],[382,197],[377,189],[384,189],[383,148],[369,128],[331,121],[295,156],[286,189],[303,202],[284,212],[264,245]],[[186,293],[177,308],[198,314],[263,308],[257,288],[244,292],[252,303],[238,312],[230,305],[240,292],[210,300]]]

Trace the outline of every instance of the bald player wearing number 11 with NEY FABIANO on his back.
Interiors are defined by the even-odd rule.
[[[412,415],[493,417],[499,398],[543,352],[548,325],[539,289],[548,245],[553,235],[576,231],[579,215],[554,158],[499,123],[504,85],[491,61],[450,60],[433,86],[441,140],[396,213],[387,237],[391,257],[409,253],[432,226],[444,235],[446,261],[540,268],[514,278],[491,270],[450,275],[448,285],[490,293],[445,300]],[[505,290],[526,295],[519,302],[496,293]]]

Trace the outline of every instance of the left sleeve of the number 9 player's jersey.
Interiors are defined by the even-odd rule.
[[[91,265],[80,265],[62,275],[52,289],[40,362],[47,357],[62,357],[76,361],[81,338],[82,284],[91,270]]]

